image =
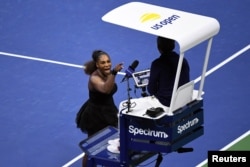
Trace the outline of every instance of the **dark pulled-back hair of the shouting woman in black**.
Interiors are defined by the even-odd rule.
[[[108,53],[102,50],[94,50],[92,53],[92,60],[84,63],[84,67],[85,67],[84,72],[87,75],[91,75],[97,69],[96,62],[98,62],[101,55],[108,55]]]

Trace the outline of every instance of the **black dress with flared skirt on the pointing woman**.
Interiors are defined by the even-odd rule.
[[[107,126],[117,127],[118,108],[113,99],[116,91],[116,84],[109,94],[89,91],[89,99],[82,105],[77,114],[77,126],[82,132],[91,136]]]

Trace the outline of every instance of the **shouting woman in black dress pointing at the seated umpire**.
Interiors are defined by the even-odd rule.
[[[84,71],[90,76],[89,99],[83,104],[76,118],[77,127],[87,133],[88,137],[107,126],[118,126],[118,108],[113,95],[117,91],[116,74],[123,68],[123,63],[120,63],[111,70],[110,56],[102,50],[95,50],[92,59],[84,64]],[[87,166],[86,154],[82,166]]]

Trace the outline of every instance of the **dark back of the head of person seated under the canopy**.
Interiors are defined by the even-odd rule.
[[[175,41],[168,38],[157,37],[157,47],[162,53],[171,52],[175,48]]]

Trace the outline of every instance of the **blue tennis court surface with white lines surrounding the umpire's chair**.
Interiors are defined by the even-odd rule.
[[[86,134],[76,128],[75,115],[88,98],[82,64],[93,50],[107,51],[113,64],[124,62],[124,69],[138,60],[138,71],[159,56],[155,36],[101,20],[127,2],[132,1],[0,1],[0,166],[60,167],[82,154],[78,144]],[[140,2],[220,23],[204,85],[204,135],[187,145],[193,152],[167,154],[161,164],[193,167],[207,158],[208,150],[220,150],[250,130],[250,1]],[[191,79],[201,74],[205,46],[185,54]],[[122,77],[116,78],[117,106],[127,98]],[[133,87],[131,95],[140,97],[140,90]],[[81,159],[71,166],[81,166]]]

